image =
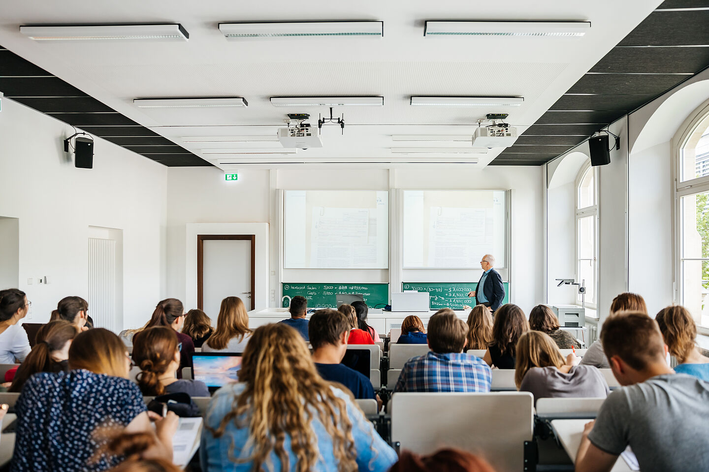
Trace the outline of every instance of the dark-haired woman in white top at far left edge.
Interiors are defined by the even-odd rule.
[[[22,362],[30,354],[27,332],[17,324],[27,316],[30,304],[18,288],[0,290],[0,364]]]

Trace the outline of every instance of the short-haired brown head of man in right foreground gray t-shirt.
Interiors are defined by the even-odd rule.
[[[610,315],[603,323],[601,343],[611,366],[613,356],[636,371],[645,371],[652,364],[666,364],[662,333],[646,313],[622,311]]]

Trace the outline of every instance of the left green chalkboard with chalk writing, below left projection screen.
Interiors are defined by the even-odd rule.
[[[389,305],[389,283],[281,283],[283,295],[308,299],[308,308],[337,308],[336,293],[361,293],[369,308]],[[284,308],[289,305],[283,300]]]

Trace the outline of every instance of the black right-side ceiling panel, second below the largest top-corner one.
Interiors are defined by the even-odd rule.
[[[585,74],[566,93],[657,96],[688,77],[691,76],[674,74]]]

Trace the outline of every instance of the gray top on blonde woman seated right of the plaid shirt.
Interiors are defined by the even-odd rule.
[[[574,366],[569,373],[554,366],[532,367],[520,384],[520,392],[534,395],[535,405],[539,398],[605,398],[609,391],[603,374],[593,366]]]

